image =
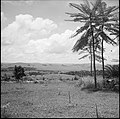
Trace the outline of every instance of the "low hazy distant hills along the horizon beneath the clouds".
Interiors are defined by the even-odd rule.
[[[21,65],[22,67],[33,67],[38,70],[56,70],[56,71],[90,71],[90,64],[42,64],[42,63],[1,63],[1,68],[14,67]],[[101,64],[96,64],[97,70],[102,70]]]

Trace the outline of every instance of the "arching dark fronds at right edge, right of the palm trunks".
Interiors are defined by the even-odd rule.
[[[105,76],[107,78],[119,77],[119,65],[106,65]]]

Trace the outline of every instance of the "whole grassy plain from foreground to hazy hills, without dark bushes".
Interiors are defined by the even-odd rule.
[[[26,74],[33,72],[34,75],[27,75],[27,80],[40,82],[1,81],[1,117],[96,118],[96,105],[99,117],[119,117],[119,93],[81,90],[83,84],[93,86],[93,77],[76,76],[78,80],[73,80],[75,75],[59,73],[88,70],[90,65],[2,63],[1,75],[12,76],[15,65],[24,67]],[[97,69],[100,70],[101,66],[97,65]],[[38,71],[44,75],[35,75],[34,72]],[[102,77],[97,76],[97,82],[101,81]]]

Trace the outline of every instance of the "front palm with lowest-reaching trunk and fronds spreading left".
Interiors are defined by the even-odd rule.
[[[85,22],[85,25],[78,29],[76,33],[72,36],[75,37],[76,35],[86,31],[82,34],[80,39],[76,42],[76,44],[73,47],[73,51],[82,50],[89,41],[89,38],[91,37],[92,42],[92,50],[93,50],[93,67],[94,67],[94,81],[95,81],[95,88],[97,88],[97,79],[96,79],[96,66],[95,66],[95,38],[94,38],[94,32],[95,32],[95,18],[96,18],[96,10],[97,6],[99,6],[100,0],[97,0],[95,4],[92,4],[92,9],[90,8],[90,5],[88,1],[86,0],[86,4],[74,4],[70,3],[70,6],[76,8],[79,10],[79,13],[66,13],[70,15],[70,17],[73,17],[73,20],[67,20],[67,21],[74,21],[74,22]],[[91,46],[91,45],[90,45]]]

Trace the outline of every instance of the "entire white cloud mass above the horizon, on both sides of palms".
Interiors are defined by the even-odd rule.
[[[52,31],[56,28],[57,24],[52,20],[40,17],[34,18],[28,14],[17,15],[15,21],[1,31],[2,62],[89,62],[88,58],[79,61],[78,53],[72,53],[73,45],[80,35],[75,39],[69,39],[75,32],[72,30],[65,30],[61,34],[52,34]],[[107,44],[105,44],[105,47],[104,56],[107,58],[105,63],[119,58],[119,47]]]

